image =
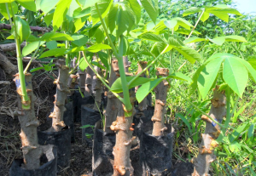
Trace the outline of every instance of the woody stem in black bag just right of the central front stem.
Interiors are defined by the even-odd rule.
[[[157,68],[156,75],[166,77],[169,75],[169,70],[165,68]],[[167,92],[170,86],[166,80],[163,80],[154,88],[155,92],[155,105],[154,105],[154,116],[151,120],[153,121],[153,132],[154,136],[164,135],[166,130],[165,126],[165,114],[166,114],[166,98]]]

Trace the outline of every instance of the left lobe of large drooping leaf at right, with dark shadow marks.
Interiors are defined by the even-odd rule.
[[[218,70],[223,60],[224,58],[221,57],[212,60],[201,71],[201,74],[197,80],[197,85],[202,96],[202,99],[206,98],[209,90],[212,88],[212,84],[218,75]]]

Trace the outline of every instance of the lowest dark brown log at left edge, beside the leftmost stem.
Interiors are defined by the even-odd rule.
[[[8,58],[0,53],[0,67],[9,76],[12,77],[18,71],[18,67],[13,65]]]

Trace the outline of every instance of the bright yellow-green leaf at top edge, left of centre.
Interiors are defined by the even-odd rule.
[[[54,31],[57,31],[61,26],[71,2],[72,0],[61,0],[60,3],[58,3],[52,21]]]

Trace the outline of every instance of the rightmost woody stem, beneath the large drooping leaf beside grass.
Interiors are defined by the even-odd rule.
[[[218,91],[218,86],[213,89],[213,98],[211,101],[212,107],[209,116],[218,122],[222,122],[223,117],[226,115],[226,97],[224,92]],[[217,147],[215,139],[218,138],[221,130],[220,127],[215,122],[212,122],[207,116],[201,116],[201,120],[207,122],[207,126],[205,133],[202,133],[199,154],[191,161],[194,163],[194,173],[192,173],[192,176],[209,175],[211,162],[216,158],[213,154],[214,148]]]

